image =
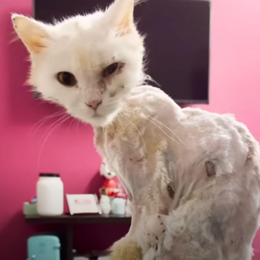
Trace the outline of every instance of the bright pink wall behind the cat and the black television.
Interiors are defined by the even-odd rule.
[[[92,129],[70,119],[55,129],[46,140],[38,163],[39,151],[54,119],[34,125],[58,109],[33,100],[23,86],[28,69],[27,53],[12,38],[9,12],[31,14],[31,0],[5,0],[0,5],[0,258],[25,259],[26,238],[37,230],[24,224],[23,201],[35,193],[39,171],[62,174],[67,193],[95,192],[102,183],[97,175],[100,158],[92,143]],[[260,2],[259,0],[213,0],[210,105],[200,106],[214,112],[235,113],[260,140]],[[96,229],[99,232],[95,232]],[[86,233],[79,248],[108,245],[122,235],[120,226],[114,237],[102,235],[103,227],[79,227]],[[106,227],[111,231],[114,227]],[[108,230],[109,229],[109,230]],[[81,232],[81,233],[82,233]],[[91,238],[91,241],[88,240]],[[104,243],[105,240],[107,243]],[[90,242],[89,242],[90,241]],[[260,249],[260,235],[255,248]],[[255,259],[260,259],[256,254]]]

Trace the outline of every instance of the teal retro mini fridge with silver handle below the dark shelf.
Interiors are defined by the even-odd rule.
[[[60,239],[56,236],[39,235],[27,241],[28,259],[60,260]]]

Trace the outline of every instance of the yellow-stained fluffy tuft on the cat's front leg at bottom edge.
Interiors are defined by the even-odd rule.
[[[142,249],[134,241],[122,238],[111,248],[111,260],[142,260]]]

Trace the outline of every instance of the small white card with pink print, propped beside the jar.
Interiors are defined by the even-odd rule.
[[[96,194],[66,194],[70,215],[101,214]]]

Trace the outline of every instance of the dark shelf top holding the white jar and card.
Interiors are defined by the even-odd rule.
[[[80,224],[80,223],[131,223],[125,215],[62,215],[59,217],[25,216],[27,223],[35,224]]]

